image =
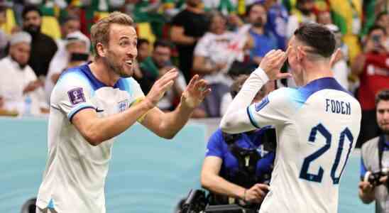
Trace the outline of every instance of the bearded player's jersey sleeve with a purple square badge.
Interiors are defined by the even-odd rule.
[[[91,102],[93,94],[94,89],[82,73],[65,72],[53,89],[50,105],[66,114],[71,122],[82,109],[96,109]]]

